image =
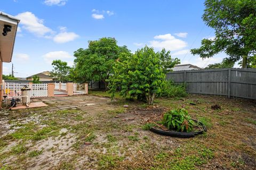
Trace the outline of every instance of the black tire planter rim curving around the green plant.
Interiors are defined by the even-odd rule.
[[[194,120],[197,122],[196,120]],[[198,134],[202,134],[207,131],[206,126],[202,122],[198,122],[200,125],[202,125],[203,130],[198,131],[198,132],[171,132],[171,131],[164,131],[164,130],[159,130],[155,128],[150,128],[149,130],[151,132],[154,132],[156,134],[161,134],[161,135],[166,135],[169,137],[177,137],[177,138],[193,138]]]

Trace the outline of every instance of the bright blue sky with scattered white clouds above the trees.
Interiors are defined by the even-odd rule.
[[[12,60],[16,77],[50,71],[55,59],[72,65],[75,50],[101,37],[115,37],[132,52],[145,45],[166,48],[181,64],[221,62],[225,54],[202,61],[188,52],[214,37],[202,21],[203,10],[203,0],[6,0],[0,6],[21,19]],[[11,63],[4,63],[4,74],[10,71]]]

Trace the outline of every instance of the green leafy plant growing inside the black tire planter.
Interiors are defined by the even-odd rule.
[[[193,131],[194,121],[188,115],[185,108],[173,109],[168,111],[163,116],[163,125],[169,130],[178,132],[191,132]]]

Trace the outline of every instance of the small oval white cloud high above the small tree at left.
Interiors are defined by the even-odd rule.
[[[55,43],[67,43],[79,37],[75,32],[67,32],[66,27],[60,27],[60,31],[60,33],[53,37]]]

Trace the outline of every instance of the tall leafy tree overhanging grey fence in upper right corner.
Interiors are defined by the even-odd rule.
[[[203,21],[215,30],[214,39],[203,39],[191,53],[209,58],[220,52],[232,61],[247,60],[256,53],[255,0],[206,0]]]

